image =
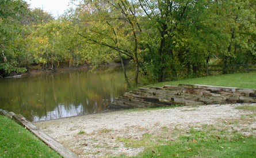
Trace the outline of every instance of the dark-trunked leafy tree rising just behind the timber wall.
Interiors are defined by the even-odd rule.
[[[147,17],[145,20],[150,21],[145,26],[153,26],[158,31],[158,34],[153,36],[154,39],[147,43],[151,57],[148,58],[146,54],[146,62],[152,62],[155,65],[152,71],[159,82],[167,78],[175,78],[177,77],[177,68],[174,51],[184,46],[185,37],[179,36],[179,33],[185,32],[184,29],[188,28],[185,23],[188,24],[189,12],[193,10],[196,1],[139,0],[139,3]],[[148,32],[148,38],[152,37],[152,34],[152,32]]]

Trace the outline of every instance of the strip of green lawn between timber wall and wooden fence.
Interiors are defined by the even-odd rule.
[[[256,72],[239,73],[239,74],[226,74],[205,76],[201,78],[192,78],[184,80],[175,80],[171,82],[161,82],[156,84],[150,84],[146,87],[164,85],[177,86],[180,83],[184,84],[204,84],[211,86],[224,86],[224,87],[239,87],[239,88],[253,88],[256,89]]]

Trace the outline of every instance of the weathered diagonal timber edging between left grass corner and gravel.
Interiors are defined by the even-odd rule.
[[[25,129],[29,130],[41,141],[43,141],[46,145],[48,145],[50,148],[58,152],[60,156],[67,157],[67,158],[78,157],[77,155],[75,155],[75,153],[71,152],[69,149],[64,147],[62,144],[60,144],[54,138],[49,136],[47,133],[43,132],[43,130],[41,130],[40,128],[37,128],[37,126],[32,124],[32,122],[26,120],[26,118],[23,117],[21,114],[14,114],[12,112],[8,112],[2,109],[0,109],[0,114],[4,115],[7,118],[11,118],[21,126],[24,126]]]

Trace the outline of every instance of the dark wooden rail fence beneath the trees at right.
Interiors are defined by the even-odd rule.
[[[226,71],[229,72],[237,72],[237,71],[256,71],[256,64],[217,64],[217,65],[207,65],[207,76],[211,73],[211,71]]]

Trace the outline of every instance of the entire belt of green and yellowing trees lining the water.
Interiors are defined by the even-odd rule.
[[[73,0],[72,2],[76,2]],[[205,75],[205,65],[255,64],[253,0],[83,0],[54,19],[1,1],[1,75],[122,63],[128,86]],[[134,74],[127,75],[129,61]]]

